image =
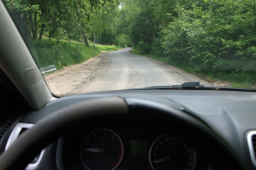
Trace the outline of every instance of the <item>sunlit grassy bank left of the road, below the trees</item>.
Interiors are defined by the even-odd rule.
[[[93,49],[93,44],[86,47],[84,43],[75,41],[60,40],[34,40],[30,51],[38,64],[39,68],[49,65],[55,65],[57,69],[62,69],[63,66],[74,65],[84,62],[101,51],[115,51],[121,47],[110,45],[96,45]]]

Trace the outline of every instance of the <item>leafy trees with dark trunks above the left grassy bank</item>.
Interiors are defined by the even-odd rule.
[[[102,13],[105,5],[117,8],[119,0],[4,0],[4,3],[14,18],[22,20],[19,25],[28,24],[21,29],[26,30],[27,37],[41,39],[44,35],[56,40],[63,37],[79,40],[81,31],[90,32],[92,25],[100,34],[105,23],[98,22],[101,19],[98,13]]]

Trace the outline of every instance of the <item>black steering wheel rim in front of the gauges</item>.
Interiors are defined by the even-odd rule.
[[[169,128],[186,131],[190,143],[208,152],[213,168],[249,169],[241,157],[206,123],[170,106],[138,98],[97,98],[73,104],[56,111],[26,130],[0,157],[0,169],[24,169],[44,147],[78,122],[111,116],[135,116],[144,120],[158,119]]]

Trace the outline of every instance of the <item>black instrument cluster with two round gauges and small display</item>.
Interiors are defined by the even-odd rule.
[[[189,142],[151,128],[99,127],[60,140],[57,160],[63,169],[211,169]]]

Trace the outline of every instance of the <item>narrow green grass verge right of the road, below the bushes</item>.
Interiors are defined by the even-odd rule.
[[[256,72],[254,71],[249,72],[248,70],[237,69],[235,71],[229,72],[225,70],[206,72],[203,70],[198,70],[198,67],[191,63],[172,62],[161,56],[159,57],[154,54],[141,54],[135,50],[131,52],[145,57],[153,58],[155,60],[163,61],[169,65],[179,67],[188,73],[203,74],[208,81],[228,81],[230,82],[231,86],[235,88],[255,88],[256,86]]]

